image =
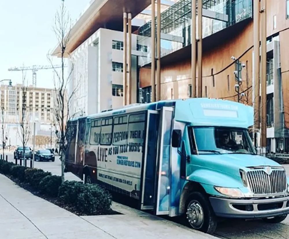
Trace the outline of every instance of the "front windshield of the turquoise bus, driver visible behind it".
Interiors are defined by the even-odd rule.
[[[214,126],[191,130],[199,154],[256,154],[247,129]]]

